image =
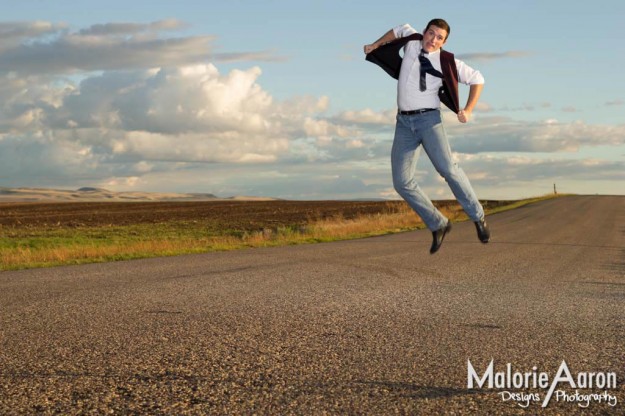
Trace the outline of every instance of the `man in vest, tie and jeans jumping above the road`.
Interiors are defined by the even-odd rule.
[[[379,65],[397,84],[397,123],[391,152],[393,186],[432,231],[430,253],[438,251],[451,231],[449,221],[421,190],[416,180],[419,146],[423,146],[436,171],[445,178],[454,196],[475,223],[477,236],[488,243],[490,231],[484,209],[469,179],[452,160],[451,148],[441,120],[443,102],[466,123],[484,87],[479,71],[442,50],[450,28],[443,19],[431,20],[423,34],[410,25],[395,27],[370,45],[365,45],[367,60]],[[404,48],[403,59],[399,49]],[[470,86],[463,109],[458,105],[458,82]]]

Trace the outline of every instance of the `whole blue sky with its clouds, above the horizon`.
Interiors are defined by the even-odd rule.
[[[395,83],[362,46],[451,25],[444,112],[480,198],[625,193],[625,3],[32,1],[0,20],[0,186],[397,198]],[[461,86],[461,101],[468,88]],[[427,157],[420,183],[450,198]]]

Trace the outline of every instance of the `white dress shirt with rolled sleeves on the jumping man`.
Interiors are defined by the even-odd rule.
[[[404,38],[418,33],[412,26],[405,24],[393,28],[396,38]],[[421,52],[420,41],[410,41],[404,46],[404,58],[399,72],[397,83],[397,106],[401,111],[419,110],[422,108],[439,108],[441,101],[438,98],[438,90],[443,85],[443,80],[430,74],[425,74],[426,90],[419,90],[419,53]],[[442,72],[440,49],[431,52],[426,57],[432,66]],[[458,68],[458,82],[466,85],[483,84],[484,77],[464,62],[455,59]]]

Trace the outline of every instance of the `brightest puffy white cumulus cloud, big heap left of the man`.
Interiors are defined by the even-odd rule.
[[[272,129],[272,98],[256,82],[260,74],[253,67],[222,76],[212,64],[105,73],[68,95],[55,123],[166,134],[265,134]]]

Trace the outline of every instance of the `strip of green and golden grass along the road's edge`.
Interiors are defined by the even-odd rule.
[[[515,209],[554,195],[485,206],[487,215]],[[466,220],[457,205],[441,208],[452,221]],[[19,270],[69,264],[96,263],[147,257],[175,256],[346,240],[422,228],[407,205],[379,214],[345,219],[311,219],[305,225],[266,227],[259,231],[215,230],[204,221],[176,221],[106,227],[0,229],[0,270]]]

